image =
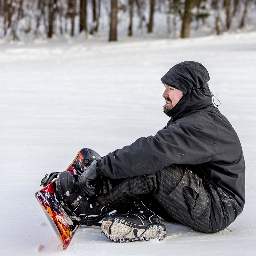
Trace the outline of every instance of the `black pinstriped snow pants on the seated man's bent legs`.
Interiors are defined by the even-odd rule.
[[[164,220],[213,232],[208,192],[202,179],[187,167],[172,164],[158,172],[113,181],[112,189],[97,197],[99,203],[114,210],[139,198]]]

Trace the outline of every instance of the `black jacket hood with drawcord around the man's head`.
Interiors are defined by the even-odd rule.
[[[184,61],[173,66],[162,78],[163,84],[177,88],[184,93],[180,101],[169,111],[167,116],[180,118],[193,110],[212,104],[212,93],[207,82],[210,76],[206,68],[195,61]]]

